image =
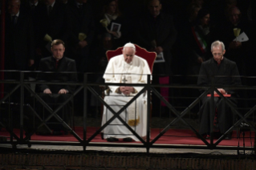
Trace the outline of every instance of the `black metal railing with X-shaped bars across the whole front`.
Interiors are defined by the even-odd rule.
[[[20,90],[20,96],[19,96],[19,102],[16,103],[16,105],[19,106],[19,136],[14,133],[14,124],[13,124],[13,116],[11,113],[8,117],[9,122],[8,123],[3,123],[2,119],[0,119],[0,126],[5,127],[6,131],[10,133],[10,140],[7,141],[0,141],[0,144],[12,144],[12,146],[15,148],[17,144],[45,144],[45,145],[74,145],[74,146],[82,146],[83,151],[85,152],[87,149],[87,146],[97,146],[97,147],[131,147],[131,148],[145,148],[146,152],[149,152],[150,148],[197,148],[197,149],[228,149],[228,150],[237,150],[238,147],[230,147],[230,146],[218,146],[220,144],[221,140],[223,140],[227,133],[233,131],[234,127],[238,127],[241,123],[246,123],[248,124],[254,132],[256,132],[256,128],[254,123],[251,121],[248,121],[248,118],[250,115],[253,115],[254,111],[256,110],[256,105],[253,107],[250,107],[250,109],[247,109],[246,113],[242,114],[241,111],[238,109],[238,107],[234,106],[234,103],[230,102],[229,98],[224,97],[219,91],[217,91],[217,86],[213,84],[213,81],[209,87],[198,87],[197,85],[181,85],[181,84],[151,84],[151,75],[147,75],[148,83],[145,84],[135,84],[135,83],[126,83],[126,86],[132,86],[132,87],[144,87],[141,91],[138,92],[124,107],[120,109],[120,111],[114,111],[112,107],[108,105],[104,101],[101,95],[95,91],[93,87],[99,87],[99,86],[110,86],[110,85],[115,85],[115,86],[122,86],[124,85],[123,83],[93,83],[88,80],[88,76],[91,76],[93,74],[91,73],[84,73],[83,74],[83,80],[76,82],[76,83],[63,83],[63,82],[43,82],[43,81],[30,81],[29,79],[24,79],[24,75],[27,73],[30,73],[30,71],[18,71],[19,73],[19,80],[1,80],[0,83],[4,84],[5,86],[8,86],[10,84],[14,84],[14,87],[6,93],[2,99],[0,99],[0,104],[2,103],[11,103],[10,96],[14,95],[15,91]],[[51,74],[51,73],[49,73]],[[72,73],[67,73],[65,74],[74,74]],[[35,84],[66,84],[66,85],[71,85],[71,86],[76,86],[75,92],[64,102],[59,105],[55,110],[53,110],[49,105],[40,98],[40,96],[31,89],[30,83],[35,83]],[[163,97],[159,91],[156,90],[157,87],[168,87],[172,89],[184,89],[184,88],[189,88],[189,89],[205,89],[205,92],[203,92],[201,95],[197,97],[197,99],[194,99],[192,103],[189,104],[189,106],[185,107],[183,111],[177,111],[177,109],[172,105],[172,103],[169,103],[165,97]],[[248,87],[248,86],[239,86],[239,87],[229,87],[229,89],[234,89],[234,90],[256,90],[256,87]],[[33,111],[35,117],[39,118],[40,122],[39,124],[35,125],[35,128],[33,131],[26,132],[26,136],[23,136],[24,134],[24,106],[27,105],[27,103],[24,103],[26,96],[24,95],[24,91],[28,91],[30,95],[33,95],[36,101],[41,103],[43,107],[50,112],[50,115],[47,116],[46,119],[40,118],[39,114],[35,111],[33,107],[28,104],[30,107],[30,110]],[[213,96],[213,91],[217,91],[217,94],[220,95],[222,99],[225,99],[226,104],[228,104],[232,108],[232,113],[238,117],[238,119],[234,122],[233,126],[230,127],[230,129],[225,132],[215,143],[213,143],[213,136],[210,136],[209,142],[205,140],[201,134],[197,132],[197,128],[193,127],[188,121],[184,119],[185,115],[188,115],[189,111],[193,109],[193,107],[196,107],[198,103],[201,103],[201,99],[205,97],[207,94],[211,94]],[[70,127],[66,122],[63,121],[63,118],[61,118],[57,112],[60,111],[65,104],[67,104],[71,99],[73,99],[78,93],[83,92],[83,103],[87,103],[88,101],[88,93],[91,93],[96,99],[100,101],[105,107],[108,108],[109,111],[112,111],[113,116],[111,119],[108,119],[108,121],[103,124],[101,127],[99,127],[91,136],[87,136],[87,104],[83,104],[83,137],[79,136],[76,134],[75,130]],[[120,113],[124,111],[125,108],[127,108],[133,101],[135,101],[141,94],[144,92],[147,93],[147,100],[148,103],[150,103],[150,98],[151,95],[154,94],[158,99],[161,100],[161,102],[165,103],[165,105],[169,108],[170,111],[176,116],[169,124],[161,131],[159,134],[153,138],[150,139],[150,105],[148,104],[147,106],[147,139],[143,140],[133,129],[124,121],[124,119],[120,118]],[[10,106],[9,106],[10,107]],[[211,97],[211,109],[210,109],[210,132],[213,133],[213,114],[214,114],[215,109],[213,108],[213,97]],[[0,112],[0,115],[1,112]],[[35,141],[35,140],[30,140],[30,136],[32,136],[36,130],[39,127],[42,126],[47,126],[47,121],[51,119],[52,117],[55,117],[55,119],[58,120],[59,123],[63,125],[67,129],[67,131],[71,132],[71,134],[75,137],[77,142],[54,142],[54,141]],[[112,122],[113,119],[119,119],[121,123],[124,124],[125,127],[128,128],[130,132],[134,136],[136,136],[140,140],[140,144],[121,144],[121,143],[96,143],[92,142],[92,140],[95,138],[95,136],[98,136],[102,130],[108,126],[109,123]],[[172,144],[156,144],[156,141],[161,138],[161,136],[165,135],[165,132],[169,130],[169,128],[177,123],[178,121],[181,121],[184,123],[187,127],[189,127],[193,133],[201,139],[201,141],[205,144],[204,146],[186,146],[186,145],[172,145]],[[252,150],[250,147],[244,147],[242,148],[244,150]]]

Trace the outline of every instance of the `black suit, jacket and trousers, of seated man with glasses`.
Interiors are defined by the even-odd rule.
[[[71,83],[77,81],[77,75],[75,73],[75,61],[73,59],[68,59],[63,57],[59,59],[59,62],[55,60],[54,57],[47,57],[45,59],[41,59],[39,64],[39,71],[53,71],[54,73],[39,73],[37,76],[38,80],[46,81],[46,82],[63,82],[63,83]],[[62,71],[64,73],[62,73]],[[67,72],[74,72],[74,73],[67,73]],[[66,101],[71,94],[75,91],[75,86],[65,85],[65,84],[39,84],[39,93],[40,97],[46,101],[50,107],[55,110]],[[51,94],[43,94],[45,89],[49,88],[51,90]],[[58,94],[61,89],[66,89],[68,92],[67,94]],[[70,103],[69,103],[70,104]],[[41,107],[42,108],[42,107]],[[64,112],[62,112],[64,111]],[[41,111],[42,112],[42,111]],[[68,115],[71,114],[70,106],[67,104],[61,109],[59,115],[64,114],[64,121],[67,121]],[[42,114],[41,114],[42,115]],[[62,116],[61,116],[62,117]],[[59,127],[53,127],[58,128]]]

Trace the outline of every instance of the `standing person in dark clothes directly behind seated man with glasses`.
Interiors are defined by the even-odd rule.
[[[71,34],[71,18],[62,2],[43,0],[44,5],[39,19],[39,48],[37,55],[47,57],[51,55],[51,42],[53,39],[62,39],[67,42]],[[66,47],[68,50],[68,47]]]

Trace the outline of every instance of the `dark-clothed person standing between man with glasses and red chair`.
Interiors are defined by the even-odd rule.
[[[92,62],[90,50],[95,35],[91,6],[87,3],[87,0],[70,0],[68,8],[72,25],[69,38],[70,56],[75,59],[78,71],[87,72]]]

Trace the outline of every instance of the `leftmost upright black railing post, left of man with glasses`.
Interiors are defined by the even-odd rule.
[[[24,72],[20,71],[20,139],[23,140]]]

